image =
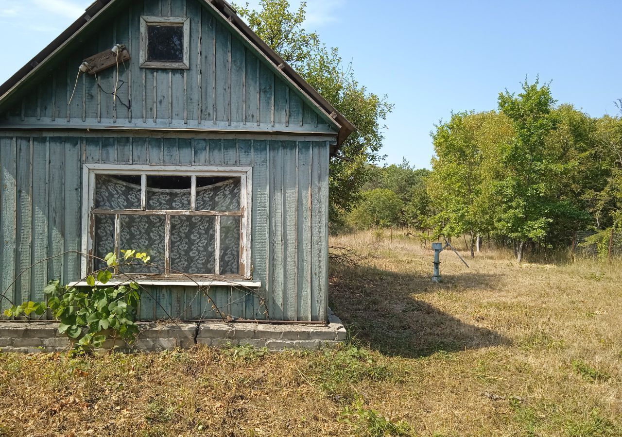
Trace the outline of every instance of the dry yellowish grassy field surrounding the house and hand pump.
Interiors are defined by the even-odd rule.
[[[332,243],[345,347],[0,354],[0,435],[622,436],[622,263]]]

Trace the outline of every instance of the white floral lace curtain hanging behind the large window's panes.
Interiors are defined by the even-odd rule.
[[[197,178],[198,211],[239,211],[241,181],[229,178],[209,183]],[[190,209],[190,190],[163,189],[147,186],[147,209],[187,211]],[[140,176],[123,179],[111,175],[97,175],[95,207],[101,209],[140,209]],[[127,273],[162,274],[165,264],[165,216],[121,214],[120,249],[147,252],[151,263],[162,268],[132,266]],[[220,274],[239,274],[240,246],[239,216],[220,217]],[[170,219],[170,268],[187,274],[214,274],[216,259],[216,218],[214,216],[172,215]],[[114,251],[114,216],[97,214],[95,217],[95,255],[103,258]],[[103,267],[96,262],[96,269]]]

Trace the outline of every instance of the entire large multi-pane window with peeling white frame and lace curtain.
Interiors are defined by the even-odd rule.
[[[86,273],[134,249],[151,261],[132,277],[249,278],[250,168],[87,167]]]

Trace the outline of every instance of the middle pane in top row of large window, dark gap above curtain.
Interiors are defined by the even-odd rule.
[[[190,209],[190,176],[147,176],[147,209]]]

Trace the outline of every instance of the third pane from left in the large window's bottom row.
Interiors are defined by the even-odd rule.
[[[215,231],[214,217],[172,216],[170,268],[187,274],[214,274]]]

